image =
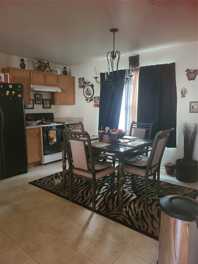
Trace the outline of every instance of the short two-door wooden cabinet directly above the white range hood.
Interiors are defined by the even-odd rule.
[[[54,73],[30,71],[31,84],[58,86],[58,76]]]

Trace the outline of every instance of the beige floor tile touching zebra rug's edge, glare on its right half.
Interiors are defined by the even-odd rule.
[[[79,206],[66,214],[64,214],[71,220],[75,221],[76,223],[83,223],[84,221],[88,220],[89,218],[92,218],[94,215],[93,211],[90,211],[82,206]]]

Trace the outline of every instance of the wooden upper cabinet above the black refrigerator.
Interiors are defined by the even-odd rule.
[[[31,104],[31,91],[30,91],[30,72],[28,70],[19,68],[2,68],[3,73],[10,72],[12,74],[13,83],[23,84],[24,105]]]

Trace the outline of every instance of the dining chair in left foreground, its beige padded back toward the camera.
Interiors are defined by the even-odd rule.
[[[116,168],[112,162],[97,161],[94,162],[91,140],[88,132],[75,132],[62,130],[64,144],[67,152],[69,163],[70,178],[70,201],[73,197],[73,178],[82,178],[92,184],[92,210],[96,207],[96,188],[98,180],[112,174],[110,188],[113,188]],[[105,177],[106,176],[106,177]],[[100,184],[103,184],[104,181]]]

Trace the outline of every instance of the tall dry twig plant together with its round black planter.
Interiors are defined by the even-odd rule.
[[[197,182],[198,161],[192,158],[195,139],[198,132],[197,123],[183,123],[183,158],[176,160],[176,179],[182,182]]]

